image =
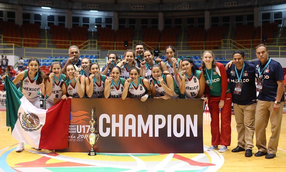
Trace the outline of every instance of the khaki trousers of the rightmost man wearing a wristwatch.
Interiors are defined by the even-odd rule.
[[[283,114],[283,102],[280,103],[280,108],[278,111],[273,110],[274,101],[257,101],[256,114],[255,114],[255,137],[256,137],[256,147],[261,152],[268,152],[271,154],[276,154],[282,114]],[[266,147],[266,127],[270,118],[271,123],[271,136],[268,142],[268,149]]]

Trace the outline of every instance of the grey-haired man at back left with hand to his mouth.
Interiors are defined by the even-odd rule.
[[[67,67],[67,64],[74,64],[76,65],[78,68],[82,67],[82,62],[79,59],[80,58],[80,50],[78,49],[77,46],[72,45],[69,47],[69,59],[64,60],[61,63],[61,73],[65,74],[65,68]]]

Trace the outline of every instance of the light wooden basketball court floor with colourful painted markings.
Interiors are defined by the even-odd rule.
[[[270,123],[267,140],[270,137]],[[231,120],[231,146],[224,153],[207,151],[211,146],[210,114],[203,114],[204,154],[112,154],[54,153],[37,151],[25,144],[25,150],[16,153],[18,141],[7,131],[6,112],[0,112],[0,171],[285,171],[286,169],[286,114],[283,114],[278,151],[274,159],[245,157],[245,152],[232,153],[237,146],[234,115]],[[254,136],[255,145],[255,136]]]

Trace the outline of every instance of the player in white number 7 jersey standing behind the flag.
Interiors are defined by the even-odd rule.
[[[45,95],[45,85],[43,83],[44,73],[39,68],[39,60],[31,58],[28,61],[29,69],[20,72],[13,80],[14,85],[20,82],[19,91],[32,103],[35,107],[40,108],[40,94]],[[2,76],[3,83],[6,75]],[[29,91],[28,91],[29,90]],[[41,93],[40,93],[41,91]],[[34,148],[34,147],[32,147]],[[24,150],[24,143],[19,142],[16,152]],[[41,150],[36,148],[36,150]]]

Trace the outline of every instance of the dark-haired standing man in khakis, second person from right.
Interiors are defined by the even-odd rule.
[[[256,108],[255,66],[244,60],[244,52],[235,51],[233,53],[234,64],[227,70],[238,132],[238,146],[231,152],[246,150],[245,157],[251,157],[252,148],[254,147],[253,135]]]

